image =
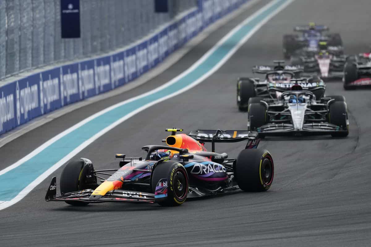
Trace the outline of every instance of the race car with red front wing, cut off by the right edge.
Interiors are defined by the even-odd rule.
[[[344,89],[371,85],[371,53],[349,56],[344,66]]]

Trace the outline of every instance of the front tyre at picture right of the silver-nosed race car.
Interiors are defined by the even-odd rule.
[[[333,137],[345,137],[349,134],[348,126],[348,113],[347,113],[347,104],[342,101],[335,101],[329,106],[329,123],[341,126],[344,132],[332,133]]]

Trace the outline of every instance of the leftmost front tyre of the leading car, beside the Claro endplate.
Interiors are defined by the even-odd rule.
[[[72,160],[65,168],[63,168],[62,174],[60,175],[60,193],[63,195],[68,192],[79,191],[86,189],[83,181],[83,167],[84,161],[82,160]],[[67,204],[73,206],[86,206],[89,203],[82,201],[65,201]]]

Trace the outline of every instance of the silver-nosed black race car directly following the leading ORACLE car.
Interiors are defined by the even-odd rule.
[[[349,133],[347,104],[344,96],[317,100],[315,94],[296,84],[278,100],[259,99],[258,103],[250,104],[247,126],[261,138],[289,134],[345,137]]]

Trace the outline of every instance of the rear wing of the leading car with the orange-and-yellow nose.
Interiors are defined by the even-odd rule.
[[[256,131],[248,130],[193,130],[188,136],[200,142],[211,142],[211,151],[215,152],[215,143],[233,143],[249,140],[245,148],[257,148],[260,142]]]

